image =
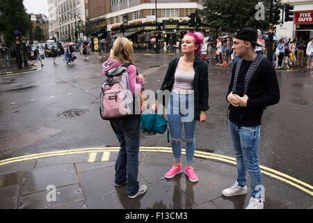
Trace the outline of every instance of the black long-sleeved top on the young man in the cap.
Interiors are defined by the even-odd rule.
[[[235,92],[241,97],[243,97],[246,73],[251,64],[252,61],[244,60],[241,63]],[[226,100],[227,96],[232,92],[235,70],[236,63],[232,68],[232,79],[227,91]],[[275,105],[280,100],[280,89],[276,71],[267,59],[264,59],[260,63],[255,74],[252,76],[246,95],[248,95],[247,107],[234,107],[230,105],[230,121],[239,126],[255,127],[261,125],[264,108],[269,105]]]

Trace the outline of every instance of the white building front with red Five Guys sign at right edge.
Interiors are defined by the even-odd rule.
[[[294,6],[294,21],[276,26],[276,36],[291,38],[291,41],[296,37],[305,41],[313,38],[313,1],[283,0],[282,3]]]

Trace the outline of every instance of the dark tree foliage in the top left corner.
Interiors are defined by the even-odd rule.
[[[22,22],[21,22],[21,10],[20,1],[22,0],[0,0],[0,35],[3,35],[6,45],[10,46],[15,43],[15,30],[19,30],[22,33],[22,25],[24,24],[24,32],[27,33],[31,27],[31,20],[26,13],[24,4],[22,2]]]

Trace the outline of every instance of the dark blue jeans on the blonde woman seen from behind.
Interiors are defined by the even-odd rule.
[[[115,162],[115,184],[128,179],[127,193],[134,196],[139,190],[138,167],[141,139],[141,116],[131,116],[122,121],[110,121],[120,142],[120,152]]]

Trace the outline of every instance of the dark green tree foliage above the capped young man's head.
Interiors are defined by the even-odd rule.
[[[265,20],[255,19],[257,3],[265,8]],[[235,32],[243,27],[266,30],[269,27],[270,0],[204,0],[200,11],[204,21],[219,31]]]

